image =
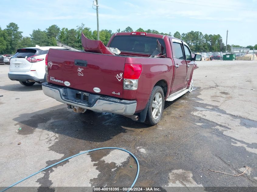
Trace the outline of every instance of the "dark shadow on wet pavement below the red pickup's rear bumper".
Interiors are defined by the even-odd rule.
[[[36,129],[47,130],[75,139],[105,142],[120,133],[133,131],[128,128],[150,127],[127,117],[111,113],[86,111],[74,113],[65,104],[50,107],[33,113],[24,113],[13,119],[22,128],[18,134],[30,135]],[[17,129],[19,128],[17,126]]]

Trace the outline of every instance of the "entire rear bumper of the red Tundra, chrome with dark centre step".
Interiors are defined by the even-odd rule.
[[[66,103],[71,106],[81,107],[83,109],[89,109],[96,112],[133,115],[137,107],[136,101],[122,100],[117,99],[116,97],[86,93],[49,83],[43,83],[42,88],[45,95],[52,97],[61,103]],[[82,94],[82,99],[76,99],[76,94]],[[88,101],[83,100],[83,95],[88,98]]]

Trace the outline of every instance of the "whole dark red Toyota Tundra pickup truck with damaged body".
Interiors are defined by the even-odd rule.
[[[82,34],[85,51],[49,49],[43,92],[75,112],[109,112],[157,124],[164,102],[193,89],[195,61],[174,37],[120,32],[107,46]]]

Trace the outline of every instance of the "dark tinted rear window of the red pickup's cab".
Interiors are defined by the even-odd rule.
[[[153,37],[119,35],[113,38],[109,47],[117,48],[124,52],[137,52],[151,55],[157,46],[156,39],[158,39],[158,41],[164,47],[163,53],[165,53],[163,39]]]

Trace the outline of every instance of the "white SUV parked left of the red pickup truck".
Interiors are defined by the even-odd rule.
[[[45,78],[45,59],[49,49],[64,49],[63,47],[28,47],[18,49],[10,59],[8,77],[19,81],[24,86],[43,83]]]

